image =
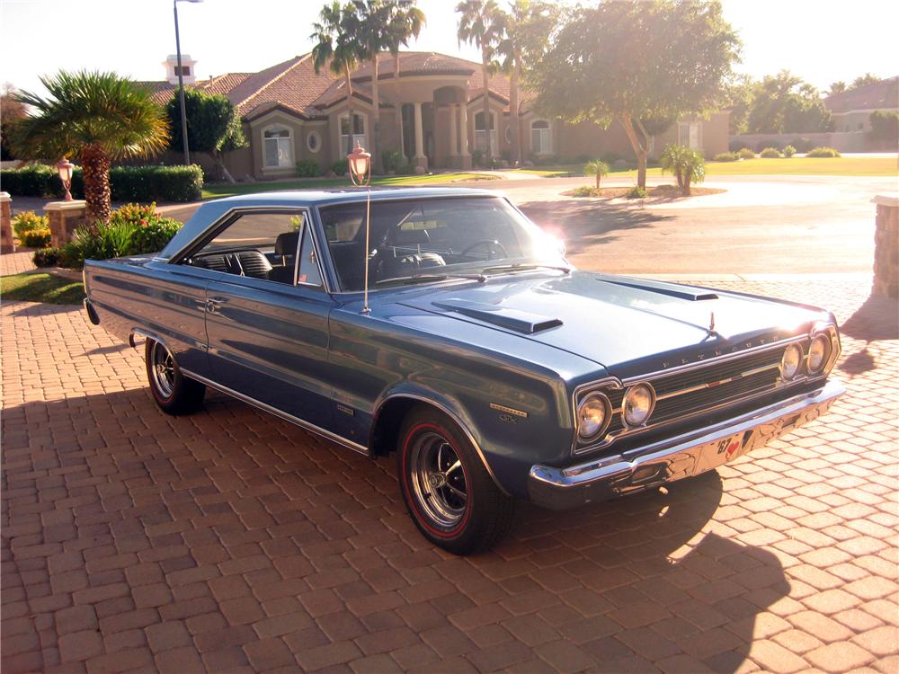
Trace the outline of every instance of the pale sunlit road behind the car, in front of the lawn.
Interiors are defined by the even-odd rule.
[[[632,178],[603,185],[627,185]],[[871,199],[896,178],[721,176],[722,194],[641,205],[561,196],[584,178],[484,181],[565,240],[581,269],[635,274],[867,273],[874,259]],[[671,182],[651,178],[650,183]],[[186,219],[196,205],[166,207]]]

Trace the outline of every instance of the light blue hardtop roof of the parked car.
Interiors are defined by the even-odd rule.
[[[190,220],[184,223],[181,230],[165,246],[160,253],[162,258],[171,258],[175,253],[204,232],[209,225],[224,216],[234,208],[289,208],[325,206],[329,204],[346,203],[350,201],[364,200],[369,193],[365,188],[350,188],[343,190],[293,190],[272,191],[245,194],[237,197],[227,197],[206,201]],[[468,187],[392,187],[372,188],[371,200],[396,200],[396,199],[439,199],[441,197],[501,197],[502,192],[493,190],[477,190]]]

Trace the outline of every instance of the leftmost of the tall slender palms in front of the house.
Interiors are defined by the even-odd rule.
[[[316,68],[316,75],[322,68],[328,66],[334,75],[343,75],[346,85],[347,122],[349,133],[347,134],[347,154],[352,152],[352,135],[354,113],[352,111],[352,80],[350,74],[359,65],[360,57],[364,53],[360,44],[359,17],[356,15],[356,5],[351,3],[343,5],[339,0],[332,4],[325,4],[318,14],[319,22],[313,24],[313,33],[309,36],[317,40],[312,48],[312,62]]]

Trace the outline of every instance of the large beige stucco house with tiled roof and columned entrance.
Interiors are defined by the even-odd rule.
[[[313,158],[326,171],[346,155],[350,105],[343,78],[327,70],[316,74],[310,54],[290,58],[258,73],[227,73],[197,80],[196,61],[182,55],[185,84],[221,93],[236,106],[249,146],[230,153],[227,168],[237,178],[255,180],[289,177],[299,159]],[[177,91],[174,57],[165,61],[163,82],[143,83],[165,103]],[[397,76],[398,75],[398,76]],[[467,169],[472,154],[489,142],[495,157],[512,148],[509,80],[494,75],[485,92],[480,64],[434,52],[407,51],[378,62],[380,142],[378,151],[396,150],[425,169]],[[485,119],[484,96],[489,116]],[[632,156],[628,139],[617,125],[562,124],[541,117],[530,106],[530,93],[521,93],[521,151],[525,158],[617,153]],[[352,135],[370,147],[373,134],[371,67],[366,63],[352,74]],[[651,155],[679,142],[699,148],[707,156],[727,149],[728,113],[708,120],[682,120],[654,138]],[[198,157],[199,159],[200,157]]]

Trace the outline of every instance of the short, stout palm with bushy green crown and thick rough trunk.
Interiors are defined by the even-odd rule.
[[[13,134],[22,156],[78,159],[84,171],[88,221],[110,217],[110,163],[153,156],[168,145],[165,110],[149,93],[115,73],[69,73],[41,77],[49,95],[15,94],[31,108]]]

